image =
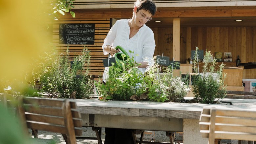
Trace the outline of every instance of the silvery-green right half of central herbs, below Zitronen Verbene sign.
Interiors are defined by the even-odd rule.
[[[188,85],[180,77],[173,76],[172,67],[163,67],[163,71],[164,75],[160,76],[159,65],[155,63],[145,76],[149,100],[157,102],[184,102],[184,96],[190,90]]]

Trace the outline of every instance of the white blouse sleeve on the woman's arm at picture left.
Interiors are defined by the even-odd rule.
[[[111,29],[108,32],[108,35],[106,36],[106,38],[104,39],[104,44],[102,45],[102,49],[103,49],[103,54],[107,55],[109,54],[108,52],[106,52],[104,50],[104,47],[106,45],[110,45],[113,46],[114,40],[116,38],[116,34],[117,34],[117,26],[118,26],[118,21],[113,25],[113,27],[111,27]]]

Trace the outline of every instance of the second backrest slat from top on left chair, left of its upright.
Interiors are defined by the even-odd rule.
[[[26,112],[43,114],[43,115],[52,115],[52,116],[63,116],[62,109],[57,107],[45,107],[45,106],[25,106]]]

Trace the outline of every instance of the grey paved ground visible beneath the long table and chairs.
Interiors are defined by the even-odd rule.
[[[90,127],[83,128],[83,136],[96,137],[95,132],[92,131],[92,129]],[[59,133],[39,131],[38,132],[38,137],[39,138],[46,138],[46,139],[55,139],[56,143],[58,143],[58,144],[66,144],[62,135],[59,134]],[[136,137],[139,138],[140,134],[136,135]],[[152,136],[147,135],[146,137],[152,137]],[[105,139],[105,130],[103,128],[102,129],[102,142],[103,143],[104,143],[104,139]],[[145,140],[149,140],[149,139],[145,139]],[[157,141],[157,142],[170,142],[169,137],[166,136],[166,133],[165,132],[160,132],[160,131],[155,131],[155,141]],[[77,140],[77,144],[98,144],[98,141],[97,140]]]

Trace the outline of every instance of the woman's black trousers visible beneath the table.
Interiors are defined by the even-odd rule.
[[[133,144],[132,130],[105,128],[104,144]]]

